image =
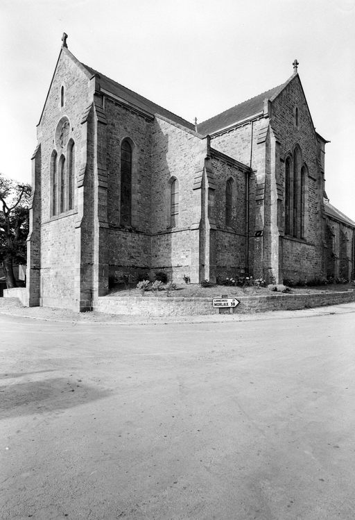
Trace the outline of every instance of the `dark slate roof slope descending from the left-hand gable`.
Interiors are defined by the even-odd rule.
[[[149,99],[140,96],[139,94],[133,92],[127,87],[123,87],[123,85],[120,85],[119,83],[116,83],[116,81],[107,78],[107,76],[104,76],[104,74],[101,74],[101,72],[97,72],[95,69],[88,67],[84,63],[82,63],[81,65],[83,65],[83,67],[85,67],[85,69],[87,69],[87,71],[92,75],[98,74],[98,76],[100,76],[99,82],[104,90],[107,90],[111,94],[114,94],[115,96],[120,97],[125,101],[128,101],[128,103],[130,103],[131,105],[137,107],[138,109],[140,108],[145,112],[148,112],[150,115],[162,115],[167,119],[171,119],[171,121],[174,121],[175,123],[184,126],[185,128],[189,128],[190,130],[195,131],[195,126],[186,119],[183,119],[182,117],[173,114],[173,112],[169,112],[169,110],[166,110],[165,108],[162,108],[161,106],[153,103],[153,101],[149,101]]]

